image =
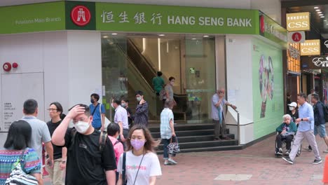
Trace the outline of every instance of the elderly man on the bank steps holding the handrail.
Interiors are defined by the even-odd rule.
[[[219,135],[221,134],[222,139],[230,139],[226,136],[226,121],[224,116],[223,108],[225,105],[237,109],[233,104],[230,104],[224,99],[224,88],[217,90],[212,97],[212,119],[214,123],[214,140],[220,140]]]

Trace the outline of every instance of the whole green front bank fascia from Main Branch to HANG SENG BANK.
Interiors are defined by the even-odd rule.
[[[85,29],[259,35],[259,14],[257,10],[58,1],[0,7],[0,34]]]

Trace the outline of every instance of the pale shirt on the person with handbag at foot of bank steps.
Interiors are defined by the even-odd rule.
[[[162,113],[160,113],[160,138],[170,139],[172,137],[172,130],[170,128],[171,119],[174,121],[172,110],[164,108]]]

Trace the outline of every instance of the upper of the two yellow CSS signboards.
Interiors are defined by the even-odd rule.
[[[287,30],[291,31],[308,31],[310,30],[310,13],[287,13],[286,14]]]

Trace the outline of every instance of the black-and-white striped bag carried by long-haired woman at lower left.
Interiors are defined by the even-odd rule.
[[[11,171],[11,174],[9,174],[9,177],[6,179],[5,185],[13,185],[13,184],[37,185],[38,184],[38,181],[32,174],[26,174],[22,170],[22,166],[20,165],[20,163],[22,162],[24,153],[25,153],[25,149],[22,151],[20,158],[13,165],[13,170]]]

